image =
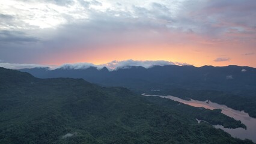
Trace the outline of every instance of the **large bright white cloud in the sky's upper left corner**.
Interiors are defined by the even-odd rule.
[[[65,6],[65,7],[63,7]],[[11,22],[0,25],[0,29],[38,29],[55,28],[67,23],[67,17],[85,19],[87,14],[81,5],[58,5],[44,1],[0,1],[0,13],[12,16]],[[83,13],[81,13],[84,10]]]

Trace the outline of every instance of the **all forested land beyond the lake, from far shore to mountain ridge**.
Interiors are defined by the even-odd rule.
[[[114,71],[108,71],[106,67],[100,70],[96,67],[62,67],[56,70],[32,68],[20,71],[41,78],[82,78],[103,86],[124,86],[138,93],[153,92],[195,100],[211,100],[236,110],[245,110],[256,118],[256,68],[252,67],[165,65],[151,68],[126,67]]]

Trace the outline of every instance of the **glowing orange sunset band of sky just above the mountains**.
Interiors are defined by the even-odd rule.
[[[232,46],[233,52],[224,49],[225,46]],[[90,62],[93,64],[105,64],[113,60],[165,60],[172,62],[183,62],[196,67],[203,65],[225,66],[225,65],[248,65],[256,67],[256,56],[248,53],[249,50],[239,49],[239,45],[233,44],[203,44],[190,46],[186,44],[150,46],[148,44],[136,44],[130,46],[112,46],[104,49],[87,50],[79,52],[62,52],[58,57],[48,58],[41,64],[61,65],[64,63]],[[248,53],[248,55],[246,55]],[[230,58],[229,61],[215,62],[216,58]]]

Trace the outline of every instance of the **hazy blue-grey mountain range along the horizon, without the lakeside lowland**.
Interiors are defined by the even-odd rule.
[[[108,71],[106,67],[101,70],[96,67],[58,68],[56,70],[32,68],[20,71],[40,78],[82,78],[100,85],[125,86],[140,92],[171,87],[195,90],[211,89],[245,96],[256,95],[256,68],[236,65],[228,67],[166,65],[151,68],[119,68],[114,71]]]

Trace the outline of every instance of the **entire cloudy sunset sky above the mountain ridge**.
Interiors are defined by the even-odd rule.
[[[1,0],[0,66],[256,67],[255,17],[255,0]]]

